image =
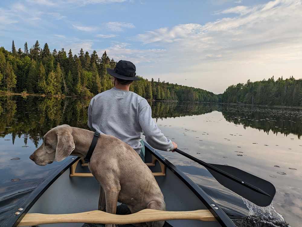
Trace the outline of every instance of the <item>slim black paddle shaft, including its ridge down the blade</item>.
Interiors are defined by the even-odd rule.
[[[233,176],[232,174],[229,174],[229,173],[227,173],[227,172],[225,172],[225,171],[223,171],[223,170],[221,170],[221,169],[218,169],[217,167],[212,166],[212,165],[209,164],[209,163],[203,162],[203,161],[201,161],[201,160],[199,160],[199,159],[197,159],[197,158],[195,158],[195,157],[193,157],[193,156],[191,156],[191,155],[189,155],[189,154],[183,152],[182,150],[175,149],[174,151],[176,151],[177,153],[179,153],[179,154],[181,154],[181,155],[183,155],[183,156],[185,156],[185,157],[187,157],[187,158],[193,160],[194,162],[197,162],[198,164],[200,164],[200,165],[206,167],[207,169],[211,169],[211,170],[213,170],[213,171],[215,171],[215,172],[217,172],[217,173],[219,173],[219,174],[221,174],[221,175],[223,175],[223,176],[225,176],[225,177],[227,177],[227,178],[229,178],[229,179],[231,179],[231,180],[233,180],[233,181],[236,181],[237,183],[240,183],[240,184],[243,185],[243,186],[248,187],[249,189],[252,189],[252,190],[255,191],[255,192],[259,192],[259,193],[261,193],[261,194],[263,194],[263,195],[265,195],[265,196],[270,196],[269,194],[267,194],[267,193],[264,192],[263,190],[261,190],[261,189],[255,187],[255,186],[249,184],[248,182],[244,182],[244,181],[242,181],[241,179],[239,179],[238,177]]]

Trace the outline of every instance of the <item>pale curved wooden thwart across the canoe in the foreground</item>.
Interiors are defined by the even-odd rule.
[[[209,210],[194,211],[161,211],[144,209],[134,214],[116,215],[100,210],[74,214],[25,214],[17,226],[32,226],[52,223],[102,223],[102,224],[133,224],[165,220],[200,220],[216,221]]]

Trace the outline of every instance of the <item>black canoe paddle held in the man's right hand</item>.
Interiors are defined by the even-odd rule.
[[[220,184],[258,206],[270,205],[275,196],[274,185],[264,179],[233,166],[205,163],[179,149],[174,151],[206,167]]]

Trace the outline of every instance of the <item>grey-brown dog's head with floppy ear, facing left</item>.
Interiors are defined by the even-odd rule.
[[[45,166],[53,161],[60,162],[75,149],[72,137],[72,127],[60,125],[49,130],[43,137],[43,143],[29,157],[39,166]]]

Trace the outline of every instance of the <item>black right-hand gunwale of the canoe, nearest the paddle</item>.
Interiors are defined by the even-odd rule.
[[[203,189],[201,189],[196,183],[194,183],[185,173],[174,166],[169,160],[165,159],[160,153],[158,153],[153,147],[148,143],[145,143],[145,147],[153,154],[157,159],[159,159],[164,165],[169,168],[183,183],[204,203],[204,205],[209,209],[209,211],[214,215],[220,225],[225,227],[236,227],[232,220],[226,215],[226,213],[215,203]],[[215,204],[218,209],[213,209],[210,204]]]

